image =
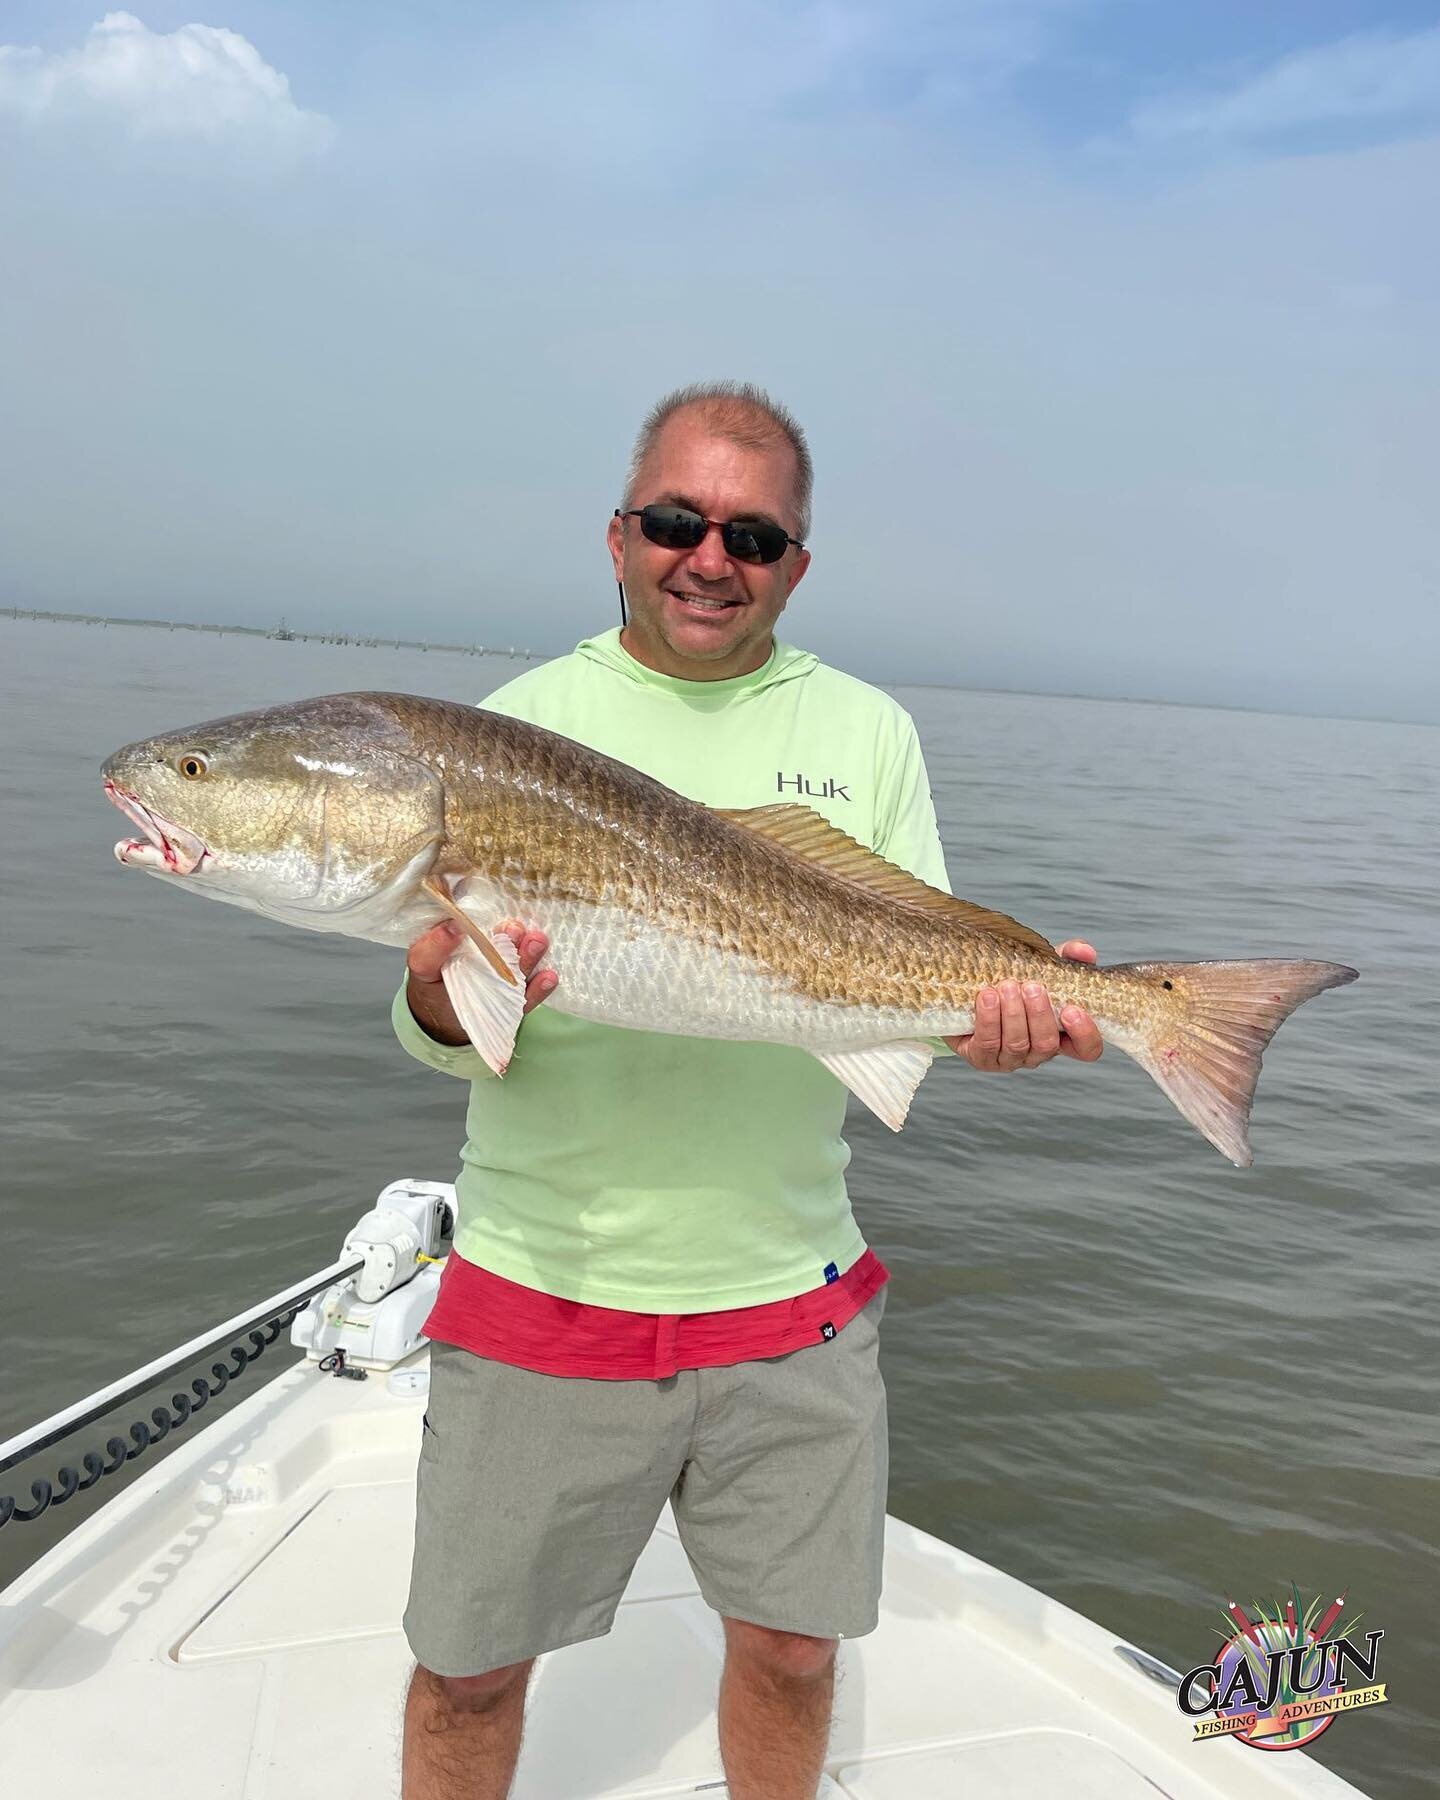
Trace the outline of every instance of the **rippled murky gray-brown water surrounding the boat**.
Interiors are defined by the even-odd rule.
[[[398,952],[121,869],[99,761],[517,668],[0,619],[0,1436],[326,1264],[385,1181],[450,1179],[463,1134],[459,1084],[391,1039]],[[891,1510],[1179,1669],[1226,1598],[1348,1589],[1391,1703],[1316,1755],[1377,1796],[1440,1791],[1440,731],[898,695],[958,893],[1103,961],[1305,954],[1361,981],[1267,1053],[1244,1172],[1120,1053],[938,1064],[900,1138],[851,1105],[895,1276]],[[52,1535],[5,1528],[0,1579]]]

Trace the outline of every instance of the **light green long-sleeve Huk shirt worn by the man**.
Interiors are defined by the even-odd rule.
[[[776,644],[752,675],[688,682],[635,662],[612,630],[484,704],[709,806],[814,806],[949,889],[909,715],[808,652]],[[803,1294],[864,1251],[846,1089],[803,1049],[540,1006],[495,1080],[468,1046],[421,1031],[403,990],[394,1028],[412,1057],[472,1082],[455,1240],[468,1262],[590,1305],[711,1312]]]

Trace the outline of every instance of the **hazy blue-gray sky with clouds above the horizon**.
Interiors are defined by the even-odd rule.
[[[733,376],[828,661],[1440,722],[1438,196],[1440,4],[9,0],[0,605],[558,653]]]

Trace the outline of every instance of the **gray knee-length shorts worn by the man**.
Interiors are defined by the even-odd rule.
[[[670,1501],[700,1593],[815,1638],[873,1631],[886,1291],[830,1343],[664,1381],[536,1375],[430,1345],[405,1636],[473,1676],[603,1636]]]

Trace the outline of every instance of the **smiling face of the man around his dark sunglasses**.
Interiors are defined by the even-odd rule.
[[[794,482],[788,445],[745,450],[688,410],[661,430],[630,504],[688,506],[718,520],[767,518],[797,536]],[[684,680],[758,670],[790,590],[810,567],[810,553],[794,545],[774,563],[734,562],[715,527],[693,551],[668,551],[641,533],[639,518],[612,518],[608,544],[630,605],[625,648],[637,662]]]

